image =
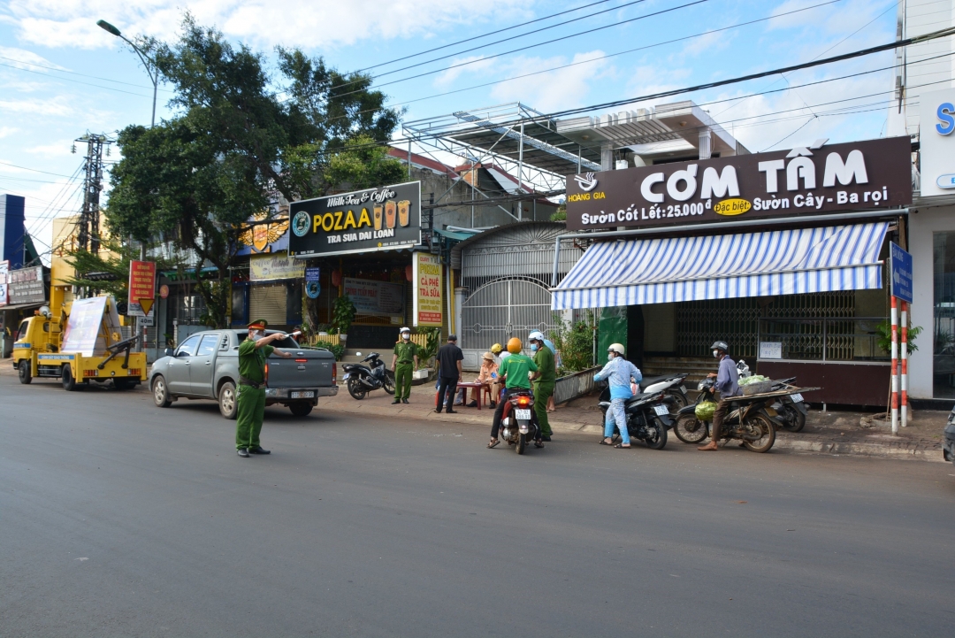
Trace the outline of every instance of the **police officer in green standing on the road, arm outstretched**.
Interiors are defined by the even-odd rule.
[[[265,359],[275,352],[288,359],[289,352],[269,346],[285,339],[282,332],[265,336],[268,322],[264,319],[248,325],[248,339],[239,345],[239,408],[236,415],[236,453],[243,458],[250,454],[271,454],[259,443],[262,419],[265,418]]]

